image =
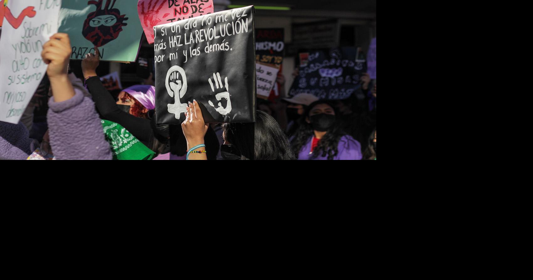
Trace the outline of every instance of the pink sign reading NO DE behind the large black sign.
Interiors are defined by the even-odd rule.
[[[148,43],[154,43],[154,26],[214,12],[213,0],[139,0],[139,18]]]

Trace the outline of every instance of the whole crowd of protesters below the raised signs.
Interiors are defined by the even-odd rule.
[[[206,124],[195,100],[181,125],[161,126],[153,73],[110,92],[96,75],[95,52],[78,78],[67,34],[43,45],[47,75],[21,122],[0,122],[0,159],[376,159],[376,83],[368,75],[346,100],[258,98],[255,123]]]

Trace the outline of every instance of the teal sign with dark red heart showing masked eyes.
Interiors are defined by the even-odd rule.
[[[84,59],[100,50],[100,60],[133,62],[142,38],[137,7],[132,0],[68,0],[61,4],[59,32],[68,33],[70,59]]]

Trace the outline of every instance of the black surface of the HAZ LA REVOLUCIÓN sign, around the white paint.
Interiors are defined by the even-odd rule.
[[[244,8],[239,8],[244,9]],[[239,10],[233,9],[233,10]],[[175,115],[168,112],[167,104],[173,104],[174,98],[170,97],[167,93],[165,81],[167,71],[172,66],[177,65],[185,70],[187,75],[188,89],[183,98],[182,103],[192,102],[196,99],[200,103],[202,114],[206,123],[222,123],[222,122],[255,122],[255,102],[256,102],[256,83],[255,83],[255,32],[254,32],[254,8],[253,6],[246,7],[246,18],[248,18],[248,32],[240,33],[231,36],[220,37],[211,41],[204,41],[191,43],[189,45],[183,45],[179,47],[171,48],[169,46],[168,37],[170,35],[181,35],[181,43],[184,44],[185,31],[189,35],[192,30],[207,29],[209,27],[216,26],[217,35],[220,36],[219,28],[221,23],[215,23],[215,16],[220,14],[228,14],[228,21],[236,21],[231,18],[231,11],[222,11],[213,14],[203,15],[201,17],[195,17],[190,20],[197,20],[197,27],[184,29],[185,23],[189,19],[176,21],[173,23],[167,23],[165,25],[156,26],[156,38],[155,44],[166,42],[166,50],[155,50],[155,55],[165,54],[165,58],[162,62],[155,63],[156,68],[156,111],[157,111],[157,124],[181,124],[185,119],[184,114],[180,114],[180,119],[176,119]],[[207,25],[204,22],[204,26],[201,26],[201,20],[203,17],[212,17],[213,21],[211,25]],[[192,23],[192,21],[190,21]],[[172,34],[171,26],[181,26],[181,33]],[[224,23],[225,24],[225,23]],[[167,35],[161,36],[161,28],[166,27]],[[229,27],[231,30],[231,27]],[[188,36],[189,37],[189,36]],[[231,51],[216,51],[205,53],[204,49],[209,44],[221,44],[225,39],[225,42],[229,42]],[[225,43],[224,42],[224,43]],[[192,58],[188,54],[187,62],[184,62],[185,57],[182,54],[184,50],[189,53],[189,47],[192,49],[200,48],[201,54],[193,56]],[[178,52],[179,58],[169,61],[169,54],[171,52]],[[216,89],[215,92],[211,90],[208,79],[213,81],[213,73],[220,73],[222,82],[224,78],[228,77],[228,88],[230,93],[232,110],[226,115],[222,116],[215,108],[209,105],[208,101],[211,100],[213,104],[217,106],[219,102],[223,107],[226,107],[227,101],[223,98],[221,101],[216,100],[215,95],[220,92],[224,92],[225,89]],[[214,81],[213,81],[214,84]]]

